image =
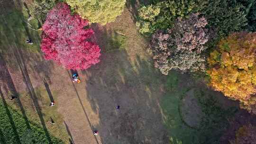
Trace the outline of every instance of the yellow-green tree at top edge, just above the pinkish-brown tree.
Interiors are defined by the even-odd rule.
[[[157,1],[157,0],[156,0]],[[165,0],[142,6],[138,10],[139,32],[149,34],[157,29],[165,30],[174,26],[176,18],[187,17],[192,12],[200,11],[207,3],[205,0]]]

